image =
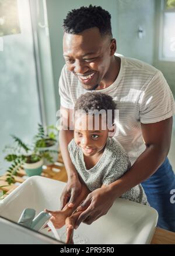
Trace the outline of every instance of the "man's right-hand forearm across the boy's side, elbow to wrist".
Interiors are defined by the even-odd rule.
[[[149,146],[136,159],[134,165],[120,179],[108,185],[108,189],[115,194],[115,197],[120,197],[127,190],[131,189],[148,179],[163,163],[167,153],[157,146]]]

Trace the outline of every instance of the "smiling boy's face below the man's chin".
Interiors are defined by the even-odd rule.
[[[88,129],[92,126],[91,129]],[[108,137],[108,129],[102,129],[103,122],[99,117],[99,129],[95,129],[95,117],[83,114],[75,119],[74,139],[85,156],[94,156],[103,152]]]

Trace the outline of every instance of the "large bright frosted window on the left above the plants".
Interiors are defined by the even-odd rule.
[[[3,160],[2,149],[12,141],[10,134],[29,143],[37,123],[41,122],[41,114],[29,1],[0,0],[0,4],[3,41],[0,51],[1,174],[9,165]],[[16,13],[13,15],[15,22],[12,22],[11,11]]]

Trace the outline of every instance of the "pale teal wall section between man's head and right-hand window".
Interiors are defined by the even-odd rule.
[[[155,1],[118,0],[117,3],[118,52],[152,64]],[[145,32],[142,39],[138,38],[139,26]]]

